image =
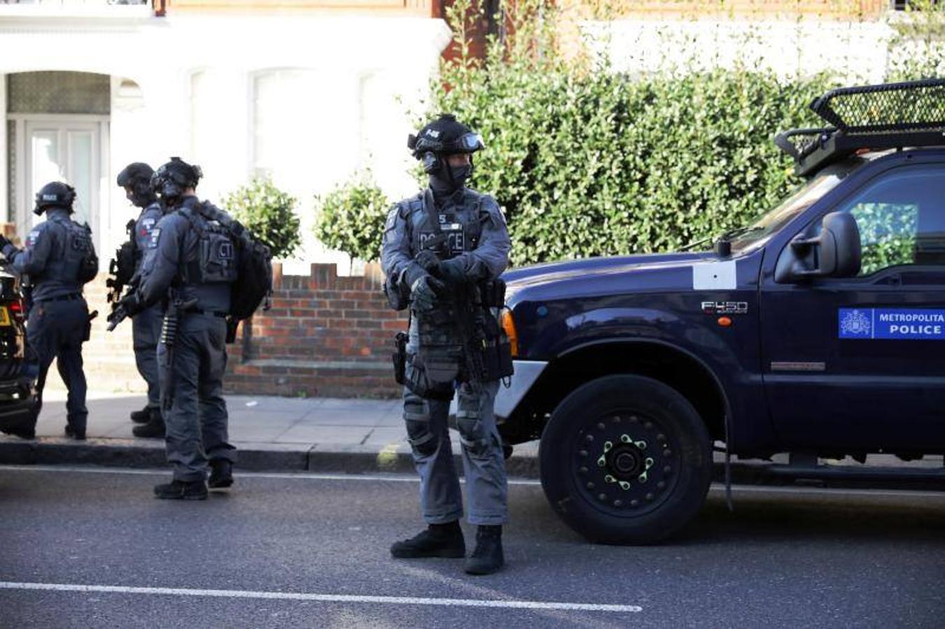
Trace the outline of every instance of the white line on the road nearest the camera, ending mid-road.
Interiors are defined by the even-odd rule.
[[[642,612],[640,605],[554,603],[546,601],[490,601],[483,599],[429,599],[413,596],[360,596],[308,592],[255,592],[241,589],[191,589],[186,587],[86,586],[63,583],[16,583],[0,581],[0,589],[51,590],[56,592],[96,592],[113,594],[156,594],[163,596],[207,596],[223,599],[269,599],[317,601],[318,603],[365,603],[393,605],[438,605],[444,607],[498,607],[503,609],[559,609],[567,611]]]

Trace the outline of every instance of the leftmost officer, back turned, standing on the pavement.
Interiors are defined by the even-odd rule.
[[[36,434],[36,420],[43,407],[43,388],[49,365],[57,359],[62,382],[69,389],[66,401],[66,436],[85,439],[86,382],[82,371],[82,343],[89,340],[92,316],[89,315],[82,286],[98,272],[98,259],[92,244],[92,232],[70,217],[76,190],[60,181],[44,185],[36,195],[37,215],[46,212],[46,220],[26,236],[20,249],[0,236],[3,254],[21,276],[28,276],[32,286],[32,305],[26,318],[26,343],[39,359],[36,404],[32,426],[21,436]]]

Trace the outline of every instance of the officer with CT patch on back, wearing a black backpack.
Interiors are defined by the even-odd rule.
[[[226,215],[195,195],[198,166],[171,158],[151,178],[167,213],[151,231],[137,290],[122,299],[128,314],[167,304],[158,366],[167,459],[174,475],[154,488],[171,500],[205,500],[211,488],[232,485],[236,450],[229,443],[223,399],[227,353],[225,317],[236,279],[232,239],[207,214]]]

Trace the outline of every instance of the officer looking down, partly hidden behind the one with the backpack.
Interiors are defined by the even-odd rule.
[[[123,247],[130,251],[128,262],[133,267],[120,269],[122,275],[138,276],[145,258],[145,251],[151,243],[151,235],[158,221],[164,214],[158,196],[151,190],[151,177],[154,169],[146,163],[134,161],[118,173],[117,183],[125,189],[125,195],[131,204],[141,209],[137,219],[129,222],[129,242]],[[121,252],[122,250],[119,249]],[[119,255],[119,264],[128,263]],[[132,280],[134,281],[134,280]],[[158,377],[158,340],[161,337],[163,320],[162,304],[156,303],[135,314],[131,319],[131,338],[134,349],[134,362],[138,373],[147,382],[147,404],[140,411],[131,413],[131,420],[140,424],[131,431],[135,436],[156,437],[164,435],[164,420],[161,415],[161,385]]]

